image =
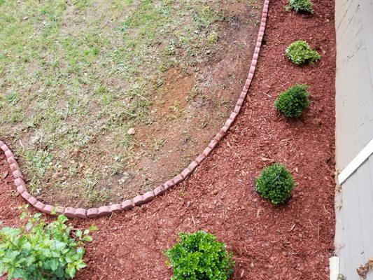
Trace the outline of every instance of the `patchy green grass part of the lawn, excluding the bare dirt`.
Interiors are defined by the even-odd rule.
[[[31,190],[88,204],[110,197],[97,184],[123,180],[143,153],[127,130],[153,123],[164,73],[217,52],[225,2],[0,0],[0,135],[15,144]],[[169,106],[175,118],[184,109]]]

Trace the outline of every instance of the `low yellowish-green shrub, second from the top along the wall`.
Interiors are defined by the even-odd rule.
[[[286,48],[288,59],[294,64],[313,64],[321,59],[321,55],[312,50],[306,41],[295,41]]]

